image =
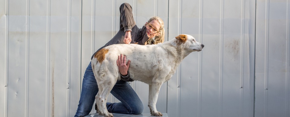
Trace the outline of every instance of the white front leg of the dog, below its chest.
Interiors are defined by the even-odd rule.
[[[148,106],[150,108],[150,113],[153,116],[162,116],[161,112],[158,112],[156,109],[156,102],[159,94],[159,90],[161,87],[162,83],[160,82],[153,82],[152,85],[149,85],[149,101],[148,101]],[[151,94],[150,94],[151,93]]]

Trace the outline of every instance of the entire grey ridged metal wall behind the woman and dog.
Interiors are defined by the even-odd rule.
[[[289,116],[288,0],[0,0],[0,116],[73,116],[85,68],[118,32],[124,2],[138,27],[159,16],[166,41],[189,34],[205,45],[163,84],[157,110]],[[150,113],[148,85],[131,86]]]

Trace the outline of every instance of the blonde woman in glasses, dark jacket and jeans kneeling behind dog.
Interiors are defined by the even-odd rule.
[[[132,7],[128,3],[123,3],[120,6],[120,30],[105,46],[98,49],[98,51],[113,44],[135,43],[139,45],[147,45],[163,42],[164,22],[160,17],[150,18],[148,22],[139,29],[133,19]],[[92,57],[94,55],[95,54],[93,54]],[[133,81],[130,78],[130,74],[127,72],[130,61],[126,64],[122,59],[126,59],[126,57],[121,55],[117,60],[122,80],[117,81],[111,91],[111,94],[121,102],[107,103],[107,109],[112,113],[141,114],[143,112],[143,104],[136,92],[128,83]],[[85,116],[91,112],[97,93],[98,85],[94,73],[92,72],[91,63],[89,63],[84,74],[81,97],[75,117]]]

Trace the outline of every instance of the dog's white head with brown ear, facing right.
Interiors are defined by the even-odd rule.
[[[179,44],[184,46],[184,49],[187,49],[188,51],[201,51],[205,45],[197,42],[194,37],[191,35],[186,34],[180,34],[177,37],[175,37],[179,42]]]

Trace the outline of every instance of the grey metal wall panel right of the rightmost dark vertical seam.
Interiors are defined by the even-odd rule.
[[[255,116],[289,117],[288,0],[257,0]]]

